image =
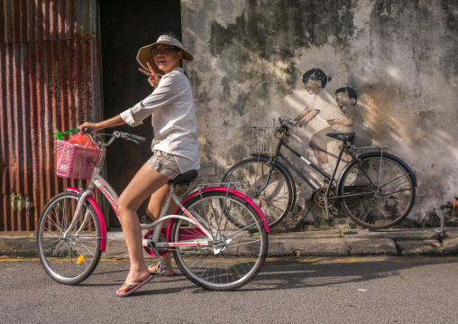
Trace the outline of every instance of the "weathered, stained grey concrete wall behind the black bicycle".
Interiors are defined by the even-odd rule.
[[[436,225],[458,199],[458,3],[453,0],[182,0],[183,42],[197,104],[203,162],[221,177],[252,152],[252,127],[304,109],[302,74],[334,74],[325,90],[355,88],[374,144],[417,171],[417,200],[403,226]],[[292,145],[315,161],[310,134]],[[298,161],[296,161],[298,162]],[[304,165],[298,162],[300,165]],[[298,178],[296,178],[298,179]],[[293,228],[310,206],[298,181]],[[448,214],[453,225],[456,214]],[[321,218],[312,208],[307,224]],[[316,222],[315,222],[316,224]]]

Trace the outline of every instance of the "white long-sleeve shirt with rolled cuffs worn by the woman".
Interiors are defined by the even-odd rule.
[[[175,68],[164,75],[150,96],[121,113],[124,122],[141,125],[154,114],[154,140],[151,151],[175,155],[179,171],[200,168],[196,107],[188,78],[183,69]]]

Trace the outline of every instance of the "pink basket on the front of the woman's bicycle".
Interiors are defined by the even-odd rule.
[[[100,155],[100,149],[57,141],[56,173],[62,178],[89,180]]]

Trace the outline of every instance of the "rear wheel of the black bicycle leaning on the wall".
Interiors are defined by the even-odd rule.
[[[398,157],[389,153],[366,153],[349,162],[338,181],[341,205],[353,221],[371,229],[398,225],[412,209],[416,195],[413,171]],[[381,160],[380,160],[381,159]],[[362,168],[380,188],[377,190]]]

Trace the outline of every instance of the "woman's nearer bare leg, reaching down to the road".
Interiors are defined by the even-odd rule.
[[[125,282],[139,282],[150,273],[143,259],[142,229],[137,216],[137,209],[140,208],[144,200],[168,181],[169,178],[152,169],[150,164],[146,162],[135,174],[118,200],[121,226],[131,260],[131,269]],[[118,293],[124,293],[128,289],[129,287],[122,286]]]

